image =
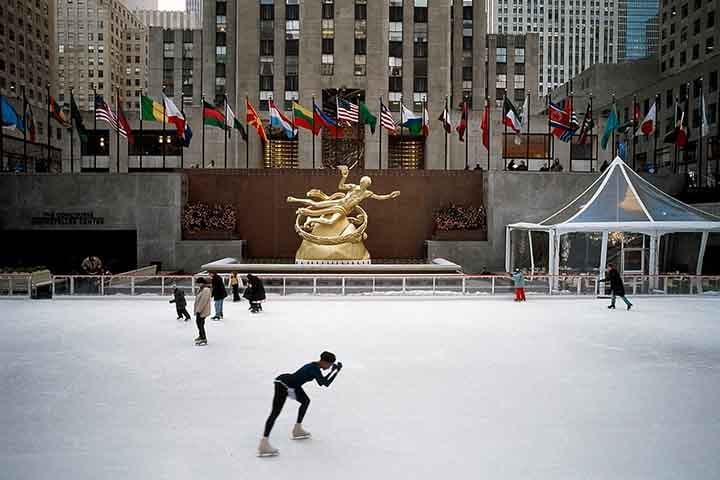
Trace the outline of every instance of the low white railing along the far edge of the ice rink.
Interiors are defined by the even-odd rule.
[[[503,296],[514,293],[507,275],[423,274],[260,274],[269,296]],[[175,285],[187,295],[197,291],[200,275],[53,275],[53,297],[151,296],[169,297]],[[229,277],[222,275],[226,285]],[[719,294],[720,276],[624,275],[628,295]],[[534,275],[525,277],[528,295],[608,295],[608,285],[593,275]],[[0,298],[27,298],[32,291],[29,275],[0,275]]]

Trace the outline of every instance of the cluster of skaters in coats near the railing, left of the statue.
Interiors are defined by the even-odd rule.
[[[243,292],[243,297],[250,303],[250,313],[260,313],[262,311],[261,302],[265,300],[265,286],[263,285],[260,277],[251,273],[247,274],[247,285]],[[225,282],[223,278],[217,273],[211,274],[210,282],[204,277],[200,277],[195,280],[198,286],[198,293],[195,295],[195,304],[193,306],[193,312],[195,313],[195,323],[198,328],[198,337],[195,339],[195,345],[207,345],[207,335],[205,333],[205,319],[210,316],[211,300],[215,306],[215,315],[212,320],[220,321],[223,317],[223,303],[227,298],[228,293],[225,288]],[[233,272],[230,274],[230,287],[233,292],[233,302],[240,301],[240,287],[242,281],[238,278],[237,273]],[[173,290],[173,299],[170,303],[175,304],[177,311],[177,319],[185,319],[187,322],[190,320],[190,314],[187,311],[187,300],[185,299],[185,292],[182,288],[175,286]]]

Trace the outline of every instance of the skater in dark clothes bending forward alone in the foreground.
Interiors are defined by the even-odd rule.
[[[300,403],[297,423],[295,423],[292,431],[292,439],[302,440],[310,438],[310,432],[302,428],[303,418],[305,418],[305,413],[310,405],[310,398],[308,398],[302,389],[302,385],[315,380],[318,385],[329,387],[338,373],[340,373],[340,370],[342,370],[342,363],[335,363],[335,360],[335,354],[323,352],[320,354],[319,361],[310,362],[295,373],[283,373],[275,379],[275,396],[273,397],[272,411],[265,422],[265,431],[263,432],[263,438],[260,440],[260,446],[258,447],[259,457],[275,456],[279,453],[277,448],[270,445],[269,437],[275,420],[278,415],[280,415],[287,397],[295,399]],[[329,368],[331,369],[330,373],[323,376],[322,370]]]

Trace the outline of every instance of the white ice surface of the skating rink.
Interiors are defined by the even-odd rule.
[[[708,479],[720,474],[720,299],[226,303],[207,347],[166,300],[3,301],[7,479]],[[345,368],[288,400],[323,349]]]

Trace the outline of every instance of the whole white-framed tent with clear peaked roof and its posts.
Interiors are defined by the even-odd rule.
[[[656,275],[659,245],[663,235],[678,232],[702,234],[696,274],[702,273],[702,262],[710,232],[720,232],[720,217],[691,207],[665,194],[640,177],[619,157],[583,193],[564,208],[539,223],[514,223],[506,227],[505,268],[512,268],[513,230],[528,232],[530,261],[532,231],[547,232],[548,273],[560,272],[560,239],[575,232],[602,233],[600,271],[607,264],[608,235],[611,232],[642,233],[649,237],[648,274]]]

